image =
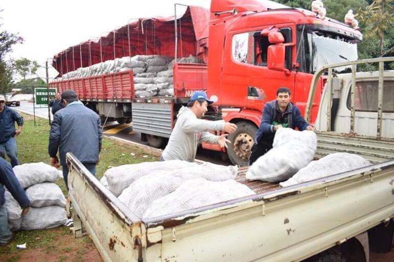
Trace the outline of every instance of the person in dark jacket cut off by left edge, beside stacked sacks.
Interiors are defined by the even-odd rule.
[[[25,190],[20,186],[11,165],[3,159],[4,154],[0,152],[0,246],[7,245],[12,241],[13,234],[8,225],[7,208],[5,207],[5,188],[23,208],[21,216],[29,212],[30,201],[26,196]]]

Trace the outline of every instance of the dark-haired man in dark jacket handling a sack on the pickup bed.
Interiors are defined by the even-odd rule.
[[[282,127],[303,130],[314,130],[301,116],[300,110],[290,102],[291,93],[287,87],[280,87],[276,91],[276,100],[266,103],[261,117],[260,128],[249,158],[251,165],[260,156],[272,148],[276,130]]]

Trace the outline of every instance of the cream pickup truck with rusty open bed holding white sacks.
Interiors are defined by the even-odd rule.
[[[245,166],[236,180],[256,195],[143,220],[68,153],[75,236],[89,234],[104,261],[368,262],[369,250],[388,252],[394,231],[394,113],[386,102],[393,100],[394,78],[383,63],[393,60],[346,62],[353,73],[343,76],[335,68],[345,63],[326,65],[311,84],[307,118],[315,82],[328,70],[316,158],[351,152],[369,159],[370,166],[289,187],[247,181]],[[378,73],[356,73],[357,64],[370,62],[379,63]],[[365,98],[378,106],[364,110]],[[375,135],[361,133],[369,128]]]

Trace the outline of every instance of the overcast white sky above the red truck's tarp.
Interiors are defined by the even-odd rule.
[[[26,57],[44,65],[67,47],[126,25],[130,18],[171,16],[174,3],[210,7],[210,0],[2,0],[0,23],[1,30],[25,39],[13,46],[12,58]]]

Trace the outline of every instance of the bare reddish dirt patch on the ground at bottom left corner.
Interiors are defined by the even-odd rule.
[[[30,231],[33,232],[33,231]],[[89,236],[75,239],[68,229],[54,229],[58,233],[53,241],[43,241],[35,236],[36,242],[42,242],[38,247],[27,244],[27,249],[16,250],[16,244],[23,244],[14,240],[10,245],[0,250],[0,261],[4,262],[101,262],[103,261]],[[29,247],[30,246],[30,247]]]

